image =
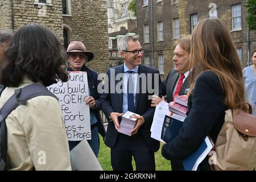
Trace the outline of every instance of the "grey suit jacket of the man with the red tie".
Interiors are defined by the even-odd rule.
[[[167,96],[167,102],[172,101],[172,93],[174,93],[175,84],[179,80],[179,73],[175,69],[171,69],[168,75],[162,81],[162,91],[163,96]],[[185,79],[183,85],[181,86],[179,96],[184,95],[186,89],[189,88],[189,76]]]

